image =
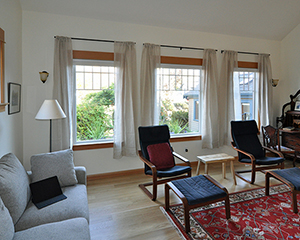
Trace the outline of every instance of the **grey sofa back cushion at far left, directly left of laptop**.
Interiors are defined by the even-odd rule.
[[[30,199],[30,188],[24,167],[12,153],[0,159],[0,197],[16,224]]]

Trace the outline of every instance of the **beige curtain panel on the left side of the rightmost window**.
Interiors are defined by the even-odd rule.
[[[220,146],[230,145],[230,121],[235,120],[235,107],[240,105],[235,99],[234,69],[237,66],[237,52],[224,51],[219,81]]]

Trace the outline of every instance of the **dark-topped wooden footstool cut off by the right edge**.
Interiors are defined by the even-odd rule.
[[[297,194],[300,193],[300,169],[297,167],[280,169],[274,171],[266,171],[266,196],[269,196],[270,177],[286,184],[292,191],[292,207],[293,212],[298,213]]]

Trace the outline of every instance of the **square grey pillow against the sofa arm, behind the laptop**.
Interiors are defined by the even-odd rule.
[[[71,149],[33,155],[30,163],[32,182],[57,176],[61,187],[77,184]]]

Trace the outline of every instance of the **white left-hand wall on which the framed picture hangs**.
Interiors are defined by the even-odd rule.
[[[5,31],[5,102],[8,83],[22,83],[22,11],[19,0],[1,0],[0,27]],[[23,157],[23,127],[21,113],[8,115],[8,107],[0,113],[0,156],[12,152]]]

